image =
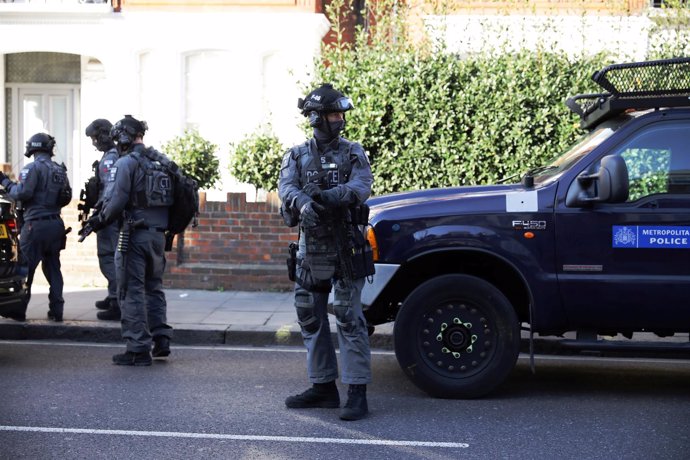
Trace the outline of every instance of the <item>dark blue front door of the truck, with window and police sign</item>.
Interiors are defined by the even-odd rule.
[[[625,160],[626,202],[567,208],[559,201],[556,270],[575,328],[690,326],[688,133],[690,120],[652,123],[601,153],[597,162],[610,154]]]

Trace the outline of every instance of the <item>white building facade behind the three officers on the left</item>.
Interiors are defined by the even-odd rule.
[[[0,3],[0,163],[18,171],[26,139],[45,130],[78,192],[99,158],[85,127],[132,114],[148,145],[198,129],[219,146],[227,187],[230,142],[266,123],[300,141],[297,98],[325,17],[294,1],[185,3]]]

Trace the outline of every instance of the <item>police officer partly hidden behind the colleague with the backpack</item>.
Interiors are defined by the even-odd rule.
[[[102,152],[100,160],[93,164],[94,176],[86,183],[82,191],[84,204],[80,210],[84,212],[83,221],[86,222],[90,209],[102,206],[105,186],[110,178],[111,169],[120,158],[115,142],[110,137],[113,125],[110,121],[98,118],[86,127],[86,136],[97,151]],[[101,273],[108,281],[108,295],[103,300],[96,301],[96,308],[103,310],[96,315],[102,320],[119,320],[120,305],[117,300],[117,279],[115,273],[115,249],[117,248],[119,228],[117,222],[103,227],[96,233],[96,254]]]

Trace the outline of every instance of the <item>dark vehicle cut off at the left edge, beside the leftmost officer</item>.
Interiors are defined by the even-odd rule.
[[[26,274],[19,258],[19,228],[14,201],[0,189],[0,316],[26,319]]]

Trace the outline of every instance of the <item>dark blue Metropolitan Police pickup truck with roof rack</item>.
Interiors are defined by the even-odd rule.
[[[493,391],[521,327],[530,350],[535,335],[603,350],[690,332],[690,59],[593,79],[604,92],[567,102],[587,134],[521,183],[369,200],[365,314],[395,321],[398,362],[430,395]],[[690,356],[690,342],[635,346]]]

